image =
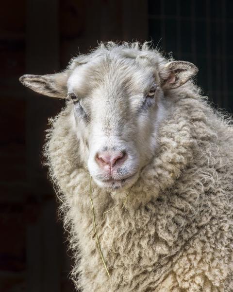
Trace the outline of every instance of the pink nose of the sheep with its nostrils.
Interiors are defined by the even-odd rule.
[[[100,166],[110,166],[113,167],[115,165],[120,166],[126,158],[125,152],[118,153],[110,153],[110,152],[102,152],[97,153],[96,161]]]

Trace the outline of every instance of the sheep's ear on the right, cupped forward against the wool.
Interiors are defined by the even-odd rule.
[[[198,68],[189,62],[173,61],[160,69],[159,76],[163,89],[180,87],[198,73]]]

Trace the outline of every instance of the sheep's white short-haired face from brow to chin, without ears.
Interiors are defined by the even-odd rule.
[[[156,148],[164,115],[158,73],[140,62],[100,57],[68,79],[83,163],[101,187],[129,186]]]

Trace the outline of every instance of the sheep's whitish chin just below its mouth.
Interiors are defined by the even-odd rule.
[[[93,179],[100,188],[103,188],[107,191],[122,190],[131,187],[137,181],[138,173],[135,173],[131,177],[122,180],[101,181],[96,178]]]

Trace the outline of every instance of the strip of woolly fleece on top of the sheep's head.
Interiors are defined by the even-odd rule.
[[[166,58],[164,58],[157,50],[150,49],[149,44],[149,42],[145,42],[142,45],[140,45],[139,42],[125,42],[120,45],[117,45],[114,42],[107,42],[106,44],[101,43],[99,47],[94,49],[90,54],[74,57],[71,60],[68,69],[74,70],[77,66],[93,61],[103,55],[109,55],[110,58],[118,55],[125,58],[136,59],[140,63],[156,67],[165,64],[167,62]]]

